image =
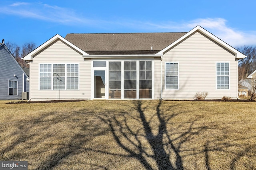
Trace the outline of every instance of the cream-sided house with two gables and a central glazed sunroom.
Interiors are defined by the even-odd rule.
[[[199,25],[184,33],[55,35],[24,57],[30,100],[238,98],[246,57]]]

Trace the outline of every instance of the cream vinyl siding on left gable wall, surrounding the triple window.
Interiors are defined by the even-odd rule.
[[[37,53],[33,57],[33,62],[30,63],[31,101],[91,99],[91,63],[91,60],[84,59],[82,54],[78,53],[78,51],[63,41],[54,41]],[[78,76],[70,76],[69,79],[68,76],[65,77],[67,78],[65,79],[67,90],[40,90],[40,78],[38,76],[40,74],[40,64],[78,64]],[[53,72],[51,74],[53,75]],[[78,88],[78,90],[68,90],[68,82],[70,82],[70,84],[74,82],[75,85],[73,87]]]

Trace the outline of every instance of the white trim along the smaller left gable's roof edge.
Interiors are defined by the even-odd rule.
[[[56,34],[54,37],[50,38],[48,41],[46,41],[45,43],[43,43],[42,45],[40,45],[38,48],[36,48],[35,50],[33,50],[32,52],[28,53],[24,58],[22,58],[23,60],[27,60],[27,61],[33,61],[33,56],[36,55],[37,53],[39,53],[42,49],[44,49],[45,47],[47,47],[48,45],[50,45],[51,43],[53,43],[54,41],[56,41],[57,39],[60,39],[61,41],[63,41],[64,43],[68,44],[69,46],[71,46],[72,48],[76,49],[78,52],[80,52],[83,56],[87,56],[89,54],[87,54],[86,52],[82,51],[80,48],[76,47],[74,44],[70,43],[68,40],[64,39],[62,36]]]

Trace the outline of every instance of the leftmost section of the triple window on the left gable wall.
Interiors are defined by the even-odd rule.
[[[52,64],[40,64],[40,90],[52,89]]]

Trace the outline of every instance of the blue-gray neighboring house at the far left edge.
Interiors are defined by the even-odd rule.
[[[22,99],[22,92],[29,92],[28,68],[22,69],[4,41],[0,43],[0,100]]]

